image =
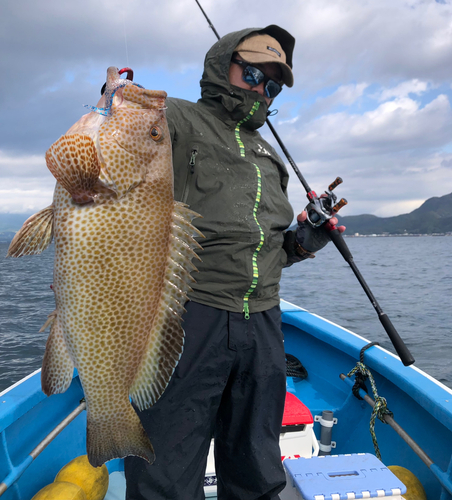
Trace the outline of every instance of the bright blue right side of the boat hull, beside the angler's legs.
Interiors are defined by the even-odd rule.
[[[323,410],[334,412],[338,419],[333,429],[334,454],[375,453],[369,431],[372,408],[357,399],[339,377],[355,367],[360,350],[368,341],[307,311],[291,311],[288,306],[285,309],[286,352],[296,355],[309,374],[308,379],[300,382],[288,379],[288,390],[313,415],[320,415]],[[380,347],[365,351],[364,361],[397,423],[440,469],[450,469],[452,391],[417,368],[403,366],[397,357]],[[370,384],[367,385],[372,396]],[[315,425],[317,435],[319,427]],[[377,419],[375,432],[383,463],[409,469],[422,482],[428,498],[439,499],[439,481],[395,431]]]

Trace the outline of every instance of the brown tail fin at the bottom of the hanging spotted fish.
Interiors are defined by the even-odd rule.
[[[146,434],[138,415],[127,401],[110,419],[105,416],[87,414],[86,449],[88,460],[93,467],[113,458],[135,455],[154,462],[154,448]]]

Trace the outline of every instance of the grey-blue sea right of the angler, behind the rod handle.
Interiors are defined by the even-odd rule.
[[[452,237],[345,238],[416,366],[452,387]],[[352,269],[329,243],[283,271],[283,298],[395,353]]]

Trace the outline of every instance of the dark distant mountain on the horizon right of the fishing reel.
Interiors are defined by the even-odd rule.
[[[429,198],[409,214],[395,217],[350,215],[338,217],[345,234],[432,234],[452,232],[452,193]]]

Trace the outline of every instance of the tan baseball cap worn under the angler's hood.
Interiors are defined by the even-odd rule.
[[[293,73],[287,64],[286,53],[281,44],[267,33],[253,33],[242,40],[234,52],[238,52],[240,57],[249,63],[278,63],[281,67],[282,81],[288,86],[293,86]]]

